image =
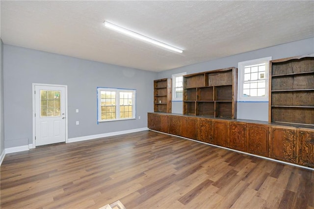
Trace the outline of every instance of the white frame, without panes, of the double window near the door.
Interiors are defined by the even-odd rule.
[[[102,120],[101,111],[101,91],[114,91],[116,92],[116,118]],[[120,118],[120,92],[131,92],[132,93],[132,117],[131,118]],[[120,120],[132,120],[136,119],[136,90],[135,89],[120,89],[120,88],[107,88],[97,87],[97,122],[108,122],[108,121],[120,121]]]

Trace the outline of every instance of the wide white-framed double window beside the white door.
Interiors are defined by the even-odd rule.
[[[131,89],[98,87],[98,122],[135,119],[135,95]]]

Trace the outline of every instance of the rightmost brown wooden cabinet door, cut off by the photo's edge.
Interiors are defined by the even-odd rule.
[[[299,164],[314,167],[314,131],[299,130],[298,148]]]

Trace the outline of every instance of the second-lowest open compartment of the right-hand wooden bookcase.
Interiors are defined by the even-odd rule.
[[[314,90],[272,92],[271,101],[272,106],[314,106]]]

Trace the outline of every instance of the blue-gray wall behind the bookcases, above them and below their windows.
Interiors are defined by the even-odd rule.
[[[258,59],[267,56],[272,56],[272,59],[280,59],[309,53],[314,53],[314,38],[304,39],[252,52],[245,52],[216,60],[163,71],[158,73],[158,79],[171,78],[173,74],[183,72],[186,72],[186,74],[192,74],[227,67],[237,67],[238,62]],[[172,112],[182,114],[182,102],[173,103]],[[268,121],[268,103],[237,103],[237,118]]]

